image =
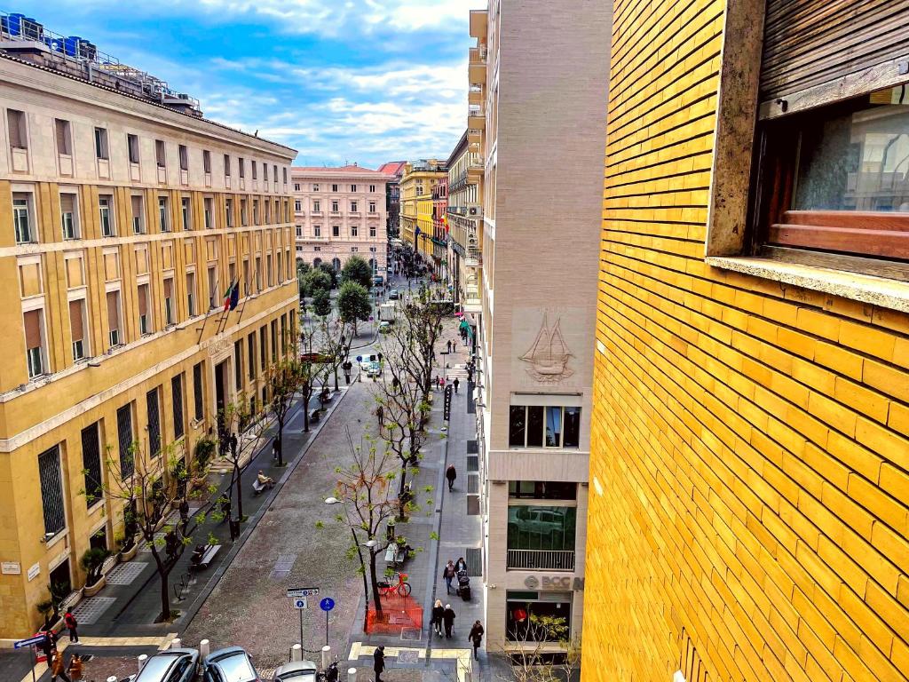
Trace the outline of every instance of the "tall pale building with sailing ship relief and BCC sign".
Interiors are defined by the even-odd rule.
[[[471,13],[467,143],[482,154],[484,215],[482,312],[468,318],[490,650],[536,647],[533,615],[581,634],[610,25],[609,3],[580,0]]]

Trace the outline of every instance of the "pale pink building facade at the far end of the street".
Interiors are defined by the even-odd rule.
[[[360,256],[376,275],[388,262],[386,176],[360,165],[294,167],[296,259],[340,270]]]

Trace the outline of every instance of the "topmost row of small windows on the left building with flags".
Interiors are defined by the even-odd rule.
[[[6,126],[9,134],[9,144],[12,150],[27,150],[29,146],[29,125],[28,117],[25,115],[25,112],[19,111],[17,109],[7,109],[6,110]],[[67,158],[72,158],[74,152],[73,144],[73,126],[72,123],[64,118],[55,118],[54,119],[54,136],[56,143],[57,154]],[[95,126],[94,129],[94,141],[95,141],[95,158],[99,161],[108,161],[110,160],[110,142],[108,139],[108,130],[103,126]],[[166,143],[165,140],[155,139],[155,166],[162,170],[166,171],[167,168],[167,153],[166,147],[169,143]],[[129,163],[131,165],[141,165],[142,155],[140,153],[140,144],[139,136],[127,133],[126,134],[126,155],[128,157]],[[190,169],[190,154],[189,148],[187,145],[177,145],[177,159],[180,171],[188,173]],[[229,187],[229,178],[231,177],[232,172],[232,156],[229,154],[224,155],[223,160],[223,169],[225,175],[225,186]],[[259,176],[259,168],[262,169],[262,180],[263,180],[263,189],[267,191],[268,189],[268,171],[269,165],[265,162],[257,162],[253,159],[246,159],[243,156],[236,157],[236,169],[239,177],[244,179],[246,176],[246,167],[249,166],[250,172],[253,176],[253,180],[257,181]],[[206,176],[211,176],[212,173],[212,153],[207,149],[202,150],[202,166],[203,171]],[[72,167],[71,165],[69,167]],[[275,192],[278,191],[278,165],[272,164],[272,182],[274,185]],[[66,174],[71,175],[71,174]],[[281,167],[281,180],[283,181],[285,191],[287,189],[287,167]],[[161,176],[159,176],[159,181]],[[187,184],[188,176],[184,176],[181,173],[181,183]],[[242,187],[241,187],[242,188]]]

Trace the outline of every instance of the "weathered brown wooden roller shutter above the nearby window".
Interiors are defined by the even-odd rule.
[[[909,0],[767,0],[762,102],[909,56]]]

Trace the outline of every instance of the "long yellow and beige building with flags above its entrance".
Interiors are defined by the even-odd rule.
[[[35,632],[49,584],[83,586],[86,548],[116,550],[123,509],[104,490],[131,443],[188,461],[219,406],[241,393],[262,405],[297,292],[293,149],[205,120],[191,98],[94,52],[3,37],[7,638]]]

